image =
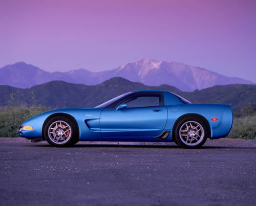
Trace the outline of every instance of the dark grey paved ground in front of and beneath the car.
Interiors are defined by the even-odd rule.
[[[123,144],[0,138],[0,205],[255,205],[256,141]]]

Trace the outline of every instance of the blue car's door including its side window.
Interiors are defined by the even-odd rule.
[[[167,121],[162,93],[134,93],[115,108],[101,112],[102,138],[154,137],[161,134]],[[126,108],[117,109],[126,104]]]

